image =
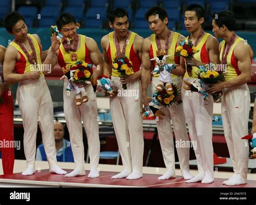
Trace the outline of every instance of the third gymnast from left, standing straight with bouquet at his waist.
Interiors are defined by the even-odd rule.
[[[113,91],[118,92],[118,96],[110,97],[110,111],[124,165],[123,172],[112,176],[112,179],[126,177],[127,180],[136,180],[142,177],[144,153],[139,80],[143,38],[128,30],[126,10],[118,8],[111,11],[109,19],[114,31],[102,38],[101,45],[105,60],[104,74],[107,78],[111,77]],[[138,95],[126,97],[123,91],[136,91]]]

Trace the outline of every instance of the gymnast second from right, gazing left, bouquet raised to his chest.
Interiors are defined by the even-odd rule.
[[[199,52],[194,54],[191,59],[186,59],[187,65],[192,66],[192,70],[185,73],[184,80],[192,83],[198,78],[199,67],[206,69],[210,62],[219,63],[219,42],[210,33],[202,29],[204,23],[204,9],[198,4],[191,4],[185,10],[184,24],[190,36],[192,44],[197,47]],[[186,84],[183,84],[186,86]],[[196,142],[194,152],[197,158],[198,174],[187,183],[201,182],[212,183],[214,181],[213,173],[213,146],[212,146],[212,114],[213,99],[208,96],[206,101],[201,94],[197,92],[182,90],[183,107],[187,120],[188,130],[191,140]]]

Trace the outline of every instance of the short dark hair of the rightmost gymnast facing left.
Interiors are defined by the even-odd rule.
[[[235,29],[235,16],[231,11],[220,11],[212,14],[212,18],[215,21],[215,24],[219,28],[223,25],[227,27],[228,30],[234,31]]]

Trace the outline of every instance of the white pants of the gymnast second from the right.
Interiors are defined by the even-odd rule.
[[[193,78],[184,78],[192,82]],[[183,83],[183,86],[186,86]],[[187,120],[190,138],[193,140],[194,153],[197,158],[199,173],[205,175],[213,173],[213,146],[212,146],[212,114],[213,99],[212,95],[208,96],[208,101],[197,92],[191,92],[182,88],[182,98],[184,113]]]

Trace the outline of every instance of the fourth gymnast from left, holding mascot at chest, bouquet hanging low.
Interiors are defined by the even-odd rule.
[[[180,33],[170,31],[168,28],[168,15],[164,8],[154,6],[149,9],[145,14],[146,20],[149,22],[150,29],[154,32],[150,37],[143,40],[143,69],[142,69],[142,94],[143,104],[146,107],[151,98],[147,96],[147,87],[150,83],[151,71],[155,67],[155,63],[150,59],[155,58],[157,51],[164,50],[166,55],[170,55],[167,58],[167,64],[177,64],[176,69],[171,71],[172,82],[181,90],[182,79],[185,70],[183,69],[183,62],[180,61],[180,57],[175,56],[174,52],[178,46],[178,42],[184,38]],[[178,66],[178,64],[180,66]],[[152,94],[156,91],[156,87],[159,84],[159,79],[152,78]],[[179,101],[180,97],[177,99]],[[160,176],[159,180],[167,180],[171,177],[176,177],[175,173],[175,156],[174,156],[174,144],[173,144],[173,130],[177,141],[188,141],[185,115],[183,111],[183,105],[166,106],[161,108],[164,117],[159,116],[157,118],[157,129],[161,145],[161,150],[164,157],[165,166],[167,168],[166,173]],[[161,119],[163,118],[163,119]],[[171,125],[171,119],[173,122],[173,130]],[[181,174],[184,179],[191,179],[193,176],[190,174],[189,169],[189,147],[177,147]]]

